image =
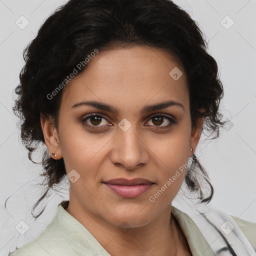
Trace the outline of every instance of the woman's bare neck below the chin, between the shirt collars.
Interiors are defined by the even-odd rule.
[[[156,219],[141,227],[118,228],[91,214],[79,204],[69,205],[66,211],[76,218],[112,256],[174,256],[180,244],[178,229],[169,205]],[[178,244],[177,244],[178,243]]]

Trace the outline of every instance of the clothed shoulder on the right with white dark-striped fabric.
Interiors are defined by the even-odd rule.
[[[176,203],[176,205],[180,206],[181,204]],[[205,204],[189,208],[181,205],[180,209],[187,213],[187,216],[179,214],[180,222],[192,223],[193,221],[203,239],[212,249],[213,255],[218,255],[220,251],[228,250],[232,253],[235,252],[236,255],[256,255],[254,252],[256,251],[256,223],[236,218],[213,205],[210,205],[210,208],[205,207]],[[196,244],[197,240],[202,240],[197,235],[199,231],[197,232],[195,227],[191,230],[191,224],[186,224],[186,226],[191,233],[189,236],[191,238],[190,241]],[[200,247],[200,241],[198,242],[198,247]]]

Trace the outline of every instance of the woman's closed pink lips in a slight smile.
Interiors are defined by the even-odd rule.
[[[144,178],[116,178],[103,182],[107,187],[124,198],[133,198],[144,193],[153,182]]]

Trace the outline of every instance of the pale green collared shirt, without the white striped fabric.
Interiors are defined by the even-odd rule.
[[[65,210],[68,203],[59,203],[57,213],[46,229],[34,241],[16,249],[9,256],[110,256],[85,226]],[[171,212],[186,236],[192,255],[214,256],[194,221],[174,206],[171,206]],[[256,251],[256,223],[232,217]]]

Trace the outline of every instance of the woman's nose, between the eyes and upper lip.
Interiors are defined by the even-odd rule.
[[[112,150],[109,155],[111,162],[129,170],[147,164],[149,148],[146,146],[145,136],[133,126],[126,131],[119,128],[111,142]]]

